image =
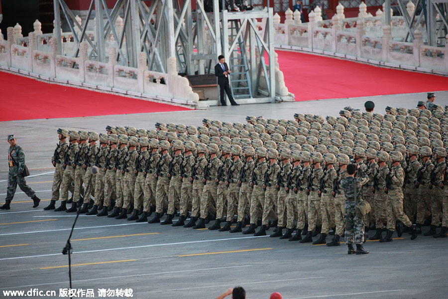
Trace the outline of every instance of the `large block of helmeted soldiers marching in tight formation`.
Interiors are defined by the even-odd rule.
[[[194,229],[212,221],[210,230],[255,236],[275,227],[271,237],[339,246],[340,181],[347,164],[356,163],[369,176],[359,190],[371,205],[364,241],[369,229],[370,240],[391,242],[395,230],[415,239],[426,223],[424,235],[447,237],[448,110],[442,106],[387,107],[384,115],[346,107],[338,117],[245,121],[107,126],[101,134],[58,129],[45,210]],[[92,178],[93,166],[99,173]]]

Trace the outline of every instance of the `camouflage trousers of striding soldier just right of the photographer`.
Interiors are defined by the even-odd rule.
[[[412,226],[412,222],[409,221],[408,216],[403,212],[403,189],[397,188],[389,190],[386,200],[386,228],[390,231],[395,230],[395,221],[401,221],[405,226]],[[439,223],[438,223],[439,224]]]

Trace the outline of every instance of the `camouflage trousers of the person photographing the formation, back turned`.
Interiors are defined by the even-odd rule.
[[[345,200],[345,244],[362,244],[364,241],[363,217],[357,217],[355,200]]]

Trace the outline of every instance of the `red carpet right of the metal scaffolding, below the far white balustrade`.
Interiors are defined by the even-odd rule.
[[[401,71],[289,51],[276,51],[296,101],[448,90],[448,77]]]

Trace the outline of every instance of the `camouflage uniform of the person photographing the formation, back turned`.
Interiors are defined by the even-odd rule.
[[[361,199],[361,186],[368,181],[368,176],[364,174],[362,178],[346,177],[341,180],[340,185],[345,195],[345,244],[362,244],[364,240],[363,217],[357,217],[355,211],[356,202]],[[356,199],[354,194],[354,184],[356,182]]]

